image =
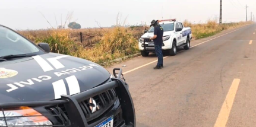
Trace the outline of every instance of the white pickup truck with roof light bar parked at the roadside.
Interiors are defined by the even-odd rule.
[[[159,20],[158,23],[163,27],[163,52],[167,51],[169,55],[175,56],[178,47],[184,47],[188,50],[192,33],[190,27],[184,27],[181,22],[172,20]],[[154,36],[154,27],[145,30],[145,34],[139,39],[138,47],[142,56],[148,56],[150,52],[155,52],[154,42],[150,37]]]

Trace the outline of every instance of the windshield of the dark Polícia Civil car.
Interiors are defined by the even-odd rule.
[[[39,52],[39,49],[14,31],[0,26],[0,57]]]

